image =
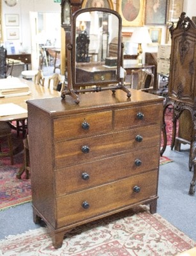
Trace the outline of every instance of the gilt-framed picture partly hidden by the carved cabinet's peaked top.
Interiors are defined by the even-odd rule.
[[[183,12],[183,0],[168,0],[168,12],[167,12],[167,21],[168,22],[177,22],[181,13]]]

